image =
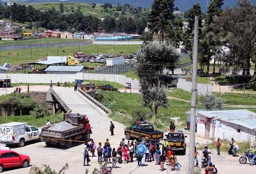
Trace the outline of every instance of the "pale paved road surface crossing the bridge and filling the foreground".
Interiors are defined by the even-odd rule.
[[[48,86],[31,86],[31,90],[34,89],[37,91],[47,91]],[[106,138],[110,139],[111,146],[117,148],[121,138],[123,137],[123,128],[124,126],[120,123],[115,124],[115,135],[110,136],[109,132],[109,122],[110,118],[104,113],[101,109],[97,108],[95,105],[90,103],[86,98],[84,98],[80,93],[73,91],[73,88],[62,88],[55,87],[55,91],[58,95],[61,96],[62,100],[67,103],[69,108],[73,109],[74,112],[87,113],[90,123],[93,126],[93,135],[92,138],[95,139],[95,142],[101,141],[104,143]],[[1,93],[3,90],[0,90]],[[10,89],[10,92],[13,90]],[[189,136],[188,136],[189,138]],[[186,142],[189,142],[188,138]],[[203,138],[197,138],[196,142],[200,144],[206,144],[209,140]],[[97,164],[97,157],[90,158],[90,166],[82,166],[83,156],[82,156],[82,143],[75,143],[74,146],[70,149],[64,149],[61,146],[52,146],[46,147],[44,142],[41,143],[31,143],[23,148],[14,148],[15,151],[29,155],[31,158],[31,164],[43,167],[44,164],[50,165],[55,170],[60,170],[65,163],[69,164],[69,169],[65,173],[85,173],[86,169],[89,169],[91,173],[94,168],[99,168]],[[201,153],[201,152],[200,152]],[[232,157],[226,155],[226,153],[221,156],[212,156],[212,161],[219,170],[219,173],[246,173],[252,174],[255,173],[255,166],[250,166],[248,164],[241,165],[238,163],[238,157]],[[201,155],[201,154],[200,154]],[[179,172],[171,173],[187,173],[187,161],[188,156],[178,156],[178,161],[182,165],[182,170]],[[117,174],[128,174],[128,173],[140,173],[140,174],[149,174],[149,173],[166,173],[159,171],[159,165],[152,163],[145,163],[141,168],[136,168],[136,161],[128,164],[117,164],[119,168],[114,169],[113,173]],[[30,168],[26,169],[10,169],[6,170],[4,173],[28,173]],[[133,171],[133,172],[131,172]],[[204,172],[202,172],[204,173]]]

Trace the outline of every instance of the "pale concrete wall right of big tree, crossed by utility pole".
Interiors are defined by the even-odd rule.
[[[177,88],[182,89],[184,91],[191,91],[192,89],[192,82],[186,81],[184,78],[179,78],[177,83]],[[206,95],[207,93],[212,93],[212,85],[210,84],[197,84],[198,92]]]

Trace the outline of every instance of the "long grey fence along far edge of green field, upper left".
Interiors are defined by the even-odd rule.
[[[23,45],[3,45],[0,46],[0,50],[21,50],[30,48],[54,48],[65,46],[79,46],[79,45],[91,45],[93,42],[81,41],[81,42],[62,42],[62,43],[38,43],[38,44],[23,44]]]

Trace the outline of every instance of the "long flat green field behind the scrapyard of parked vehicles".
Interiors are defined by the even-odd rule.
[[[113,45],[81,45],[80,51],[86,54],[92,53],[110,53],[117,54],[121,51],[123,54],[132,54],[133,52],[139,50],[141,45],[115,45],[113,50]],[[65,52],[63,52],[65,51]],[[24,50],[11,50],[11,51],[1,51],[1,61],[0,65],[3,65],[6,62],[6,57],[9,53],[9,64],[19,65],[21,63],[27,63],[32,61],[38,61],[40,58],[47,58],[49,56],[73,56],[74,52],[79,51],[79,46],[68,46],[63,48],[35,48],[35,49],[24,49]],[[31,56],[32,55],[32,56]]]

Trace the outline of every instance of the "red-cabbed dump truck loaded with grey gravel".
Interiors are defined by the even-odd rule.
[[[65,113],[63,122],[42,128],[41,136],[47,146],[64,145],[71,148],[73,141],[90,140],[91,126],[86,115]]]

